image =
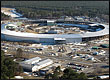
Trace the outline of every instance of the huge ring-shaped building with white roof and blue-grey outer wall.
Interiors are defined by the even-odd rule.
[[[10,31],[6,26],[16,27],[14,24],[2,24],[1,25],[1,39],[7,41],[22,41],[22,42],[35,42],[35,43],[48,43],[48,44],[59,44],[59,43],[75,43],[90,41],[97,38],[102,38],[109,35],[109,25],[106,24],[90,24],[101,25],[104,28],[96,32],[85,32],[82,34],[34,34]]]

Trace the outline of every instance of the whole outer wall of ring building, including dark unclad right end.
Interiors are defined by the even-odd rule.
[[[97,37],[85,37],[85,38],[66,38],[66,43],[75,43],[75,42],[82,42],[82,41],[90,41],[95,39],[104,38],[104,36],[97,36]],[[8,41],[22,41],[22,42],[35,42],[35,43],[53,43],[55,44],[54,38],[34,38],[34,37],[17,37],[12,35],[1,34],[1,40],[8,40]]]

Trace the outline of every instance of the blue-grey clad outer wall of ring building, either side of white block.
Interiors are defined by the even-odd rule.
[[[37,42],[37,43],[55,43],[54,38],[28,38],[28,37],[17,37],[11,35],[1,35],[2,40],[9,41],[23,41],[23,42]],[[82,42],[82,38],[66,38],[66,43]]]

